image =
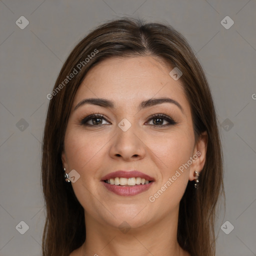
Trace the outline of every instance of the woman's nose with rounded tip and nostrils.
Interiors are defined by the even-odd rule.
[[[125,161],[142,159],[145,156],[145,144],[139,136],[135,125],[123,131],[116,126],[116,135],[111,140],[110,156],[112,158],[122,158]]]

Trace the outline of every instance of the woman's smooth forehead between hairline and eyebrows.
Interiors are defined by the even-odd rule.
[[[80,84],[73,105],[86,97],[104,97],[116,105],[171,97],[189,108],[181,80],[169,75],[172,67],[152,56],[112,57],[92,67]]]

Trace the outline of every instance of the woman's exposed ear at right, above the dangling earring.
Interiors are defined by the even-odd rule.
[[[190,165],[189,170],[189,180],[194,180],[194,171],[202,170],[205,159],[206,159],[206,150],[207,150],[208,134],[206,131],[202,132],[197,139],[197,142],[194,146],[193,155],[192,155],[192,164]]]

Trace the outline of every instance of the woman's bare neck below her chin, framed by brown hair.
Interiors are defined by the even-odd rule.
[[[177,242],[177,217],[176,213],[150,225],[120,230],[85,213],[86,240],[80,247],[80,255],[187,256]]]

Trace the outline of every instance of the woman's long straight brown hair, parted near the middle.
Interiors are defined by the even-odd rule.
[[[47,95],[50,102],[41,162],[46,206],[43,256],[69,255],[85,240],[84,210],[71,185],[64,181],[61,162],[66,124],[76,90],[87,71],[103,59],[136,55],[155,56],[182,70],[180,79],[190,104],[195,138],[203,131],[208,134],[200,185],[196,190],[193,182],[188,181],[180,201],[177,240],[191,256],[215,253],[215,210],[219,195],[224,195],[222,149],[214,104],[202,67],[186,39],[170,25],[119,18],[96,27],[74,47],[52,93]]]

